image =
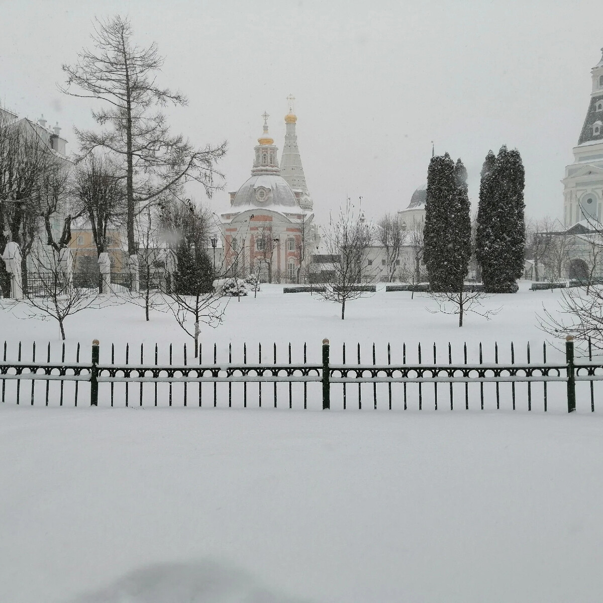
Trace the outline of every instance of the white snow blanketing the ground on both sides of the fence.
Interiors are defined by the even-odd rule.
[[[560,341],[538,328],[543,306],[555,312],[558,291],[529,291],[522,283],[515,295],[485,300],[499,314],[469,314],[458,327],[453,315],[432,314],[431,298],[409,292],[385,292],[351,301],[346,320],[339,308],[308,293],[286,294],[265,285],[257,298],[236,298],[223,324],[203,327],[201,362],[303,359],[318,362],[321,341],[330,339],[332,362],[385,363],[541,362],[543,341],[548,361],[563,361]],[[119,301],[119,303],[117,303]],[[113,303],[115,302],[115,303]],[[89,362],[92,339],[99,339],[101,363],[123,361],[160,364],[172,343],[174,364],[182,364],[183,344],[192,358],[192,339],[170,314],[124,300],[87,310],[65,323],[66,361],[81,344]],[[57,323],[25,318],[17,308],[0,308],[0,346],[7,358],[60,358]],[[557,346],[557,347],[556,347]],[[543,412],[543,385],[532,384],[532,411],[527,385],[516,386],[516,410],[510,384],[500,385],[496,409],[494,384],[470,387],[465,409],[464,385],[454,385],[451,411],[448,386],[408,386],[403,409],[402,385],[393,385],[388,409],[387,385],[343,391],[333,387],[332,408],[321,411],[320,384],[294,384],[289,408],[288,384],[263,384],[258,408],[257,384],[248,385],[242,408],[242,385],[219,384],[213,408],[213,385],[203,385],[199,408],[197,384],[101,384],[99,407],[89,406],[89,385],[80,384],[77,408],[73,384],[65,384],[58,402],[58,382],[49,389],[37,382],[35,402],[30,384],[21,385],[16,404],[14,380],[6,382],[0,405],[0,601],[7,603],[234,603],[305,602],[580,602],[603,596],[603,422],[601,393],[595,385],[595,412],[590,412],[588,384],[579,384],[577,411],[567,414],[565,384],[548,385],[548,412]],[[87,389],[86,389],[87,387]],[[377,410],[373,408],[377,392]]]

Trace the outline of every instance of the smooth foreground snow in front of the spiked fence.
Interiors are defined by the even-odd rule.
[[[601,601],[597,413],[4,405],[0,458],[0,601]]]

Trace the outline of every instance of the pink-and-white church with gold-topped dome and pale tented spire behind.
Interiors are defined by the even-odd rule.
[[[295,283],[314,246],[313,201],[306,185],[297,145],[292,101],[285,116],[285,146],[279,165],[278,148],[264,131],[254,147],[250,177],[230,192],[230,208],[220,215],[224,271],[247,276],[259,271],[263,282]]]

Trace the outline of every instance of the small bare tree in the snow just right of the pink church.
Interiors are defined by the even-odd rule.
[[[373,240],[373,227],[367,224],[348,200],[339,208],[336,220],[329,219],[323,231],[324,247],[332,259],[332,270],[325,291],[319,295],[341,304],[341,320],[346,317],[346,302],[366,294],[361,286],[362,275],[369,271],[368,252]]]

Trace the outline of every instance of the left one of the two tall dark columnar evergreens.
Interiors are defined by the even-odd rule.
[[[471,254],[467,171],[448,153],[432,157],[427,178],[425,251],[431,291],[459,291]]]

